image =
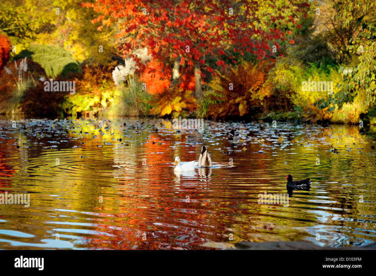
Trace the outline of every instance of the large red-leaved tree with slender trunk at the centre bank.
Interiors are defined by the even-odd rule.
[[[101,15],[92,23],[102,26],[117,25],[115,35],[124,58],[132,50],[147,47],[153,58],[164,64],[162,69],[170,78],[170,85],[179,83],[185,71],[194,70],[196,97],[201,96],[201,70],[208,56],[217,59],[217,66],[225,66],[224,56],[233,59],[233,53],[244,55],[247,51],[259,59],[271,53],[271,46],[285,33],[275,24],[294,18],[285,18],[289,9],[304,10],[308,4],[274,0],[96,0],[86,3]],[[265,9],[270,7],[270,10]],[[268,16],[269,21],[262,18]],[[233,63],[236,61],[233,59]],[[204,69],[213,75],[211,66]]]

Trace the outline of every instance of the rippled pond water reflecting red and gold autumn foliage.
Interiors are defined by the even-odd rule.
[[[376,241],[374,129],[205,121],[200,134],[149,118],[14,121],[0,120],[0,194],[27,194],[30,206],[0,204],[0,249]],[[199,159],[202,143],[187,139],[195,133],[216,168],[174,173],[176,156]],[[288,174],[311,178],[311,189],[290,193],[288,205],[260,204],[265,192],[288,193]]]

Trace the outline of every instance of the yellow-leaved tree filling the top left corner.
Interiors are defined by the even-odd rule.
[[[108,64],[116,55],[113,30],[97,32],[100,23],[93,25],[91,20],[98,14],[81,3],[82,0],[2,0],[0,32],[17,46],[14,54],[31,43],[56,45],[69,50],[77,60]]]

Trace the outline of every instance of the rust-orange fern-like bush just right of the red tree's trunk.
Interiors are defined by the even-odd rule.
[[[251,109],[262,109],[264,98],[271,95],[270,85],[265,84],[271,66],[267,61],[257,65],[244,63],[223,74],[218,72],[217,81],[210,84],[214,94],[209,94],[212,104],[208,106],[208,116],[213,119],[243,117]]]

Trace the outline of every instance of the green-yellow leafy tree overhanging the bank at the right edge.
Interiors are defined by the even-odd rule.
[[[339,70],[343,75],[340,92],[318,100],[316,104],[320,109],[329,107],[328,112],[331,112],[336,106],[341,108],[344,103],[352,103],[358,96],[365,106],[372,108],[376,103],[376,24],[373,16],[376,4],[372,0],[344,0],[336,7],[335,19],[341,22],[341,29],[353,29],[343,45],[350,61]]]

